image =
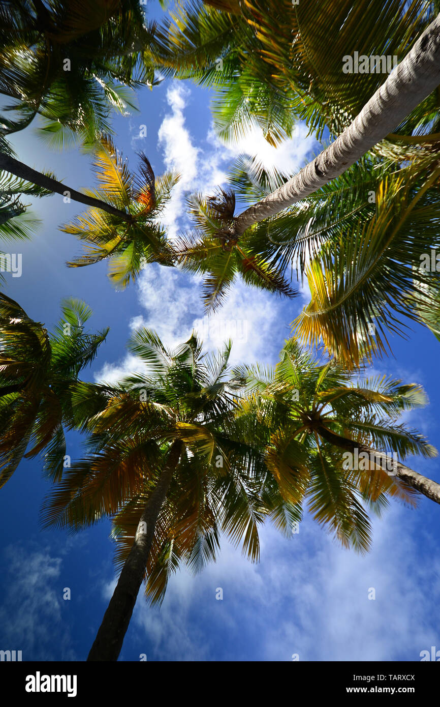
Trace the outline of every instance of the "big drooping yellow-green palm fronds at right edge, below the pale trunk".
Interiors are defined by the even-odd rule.
[[[359,366],[362,356],[391,348],[390,333],[405,334],[410,322],[429,325],[439,284],[435,269],[420,264],[440,247],[439,187],[438,160],[381,175],[369,216],[352,211],[316,250],[305,267],[311,300],[293,322],[304,344],[323,341],[345,366]],[[333,204],[324,206],[329,218]]]

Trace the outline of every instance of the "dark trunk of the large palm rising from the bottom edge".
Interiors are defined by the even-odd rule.
[[[157,517],[165,501],[174,470],[179,463],[182,442],[172,443],[167,457],[167,464],[160,474],[155,490],[139,520],[133,547],[127,557],[112,599],[102,619],[95,641],[90,648],[87,660],[117,660],[121,652],[126,630],[129,628],[136,598],[141,588],[145,565],[150,554],[155,533]],[[145,525],[143,525],[145,523]],[[141,525],[142,524],[142,525]],[[146,532],[144,531],[146,527]]]

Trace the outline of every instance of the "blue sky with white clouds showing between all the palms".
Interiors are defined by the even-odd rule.
[[[184,195],[211,191],[239,153],[258,154],[267,165],[295,173],[319,146],[299,125],[292,141],[277,151],[256,130],[240,144],[215,138],[210,94],[190,83],[164,81],[138,95],[139,112],[115,117],[115,143],[130,164],[136,151],[150,158],[156,174],[182,174],[165,222],[170,233],[187,225]],[[141,138],[141,125],[147,136]],[[93,186],[88,156],[76,150],[55,153],[35,135],[35,124],[16,134],[18,157],[52,170],[71,187]],[[73,236],[57,230],[83,209],[55,195],[32,207],[42,225],[32,241],[19,244],[23,275],[7,275],[6,293],[48,328],[59,317],[59,301],[79,297],[94,310],[91,329],[110,327],[109,337],[84,377],[112,380],[136,368],[124,344],[133,329],[157,329],[167,344],[189,337],[194,322],[208,348],[215,349],[233,328],[233,362],[275,363],[290,322],[307,301],[292,301],[237,284],[225,307],[203,330],[201,284],[179,271],[150,266],[136,285],[114,291],[105,263],[68,269],[81,252]],[[10,250],[13,250],[11,245]],[[215,324],[215,330],[213,329]],[[231,328],[232,327],[232,328]],[[430,404],[408,421],[440,447],[440,344],[420,327],[408,341],[394,338],[396,358],[375,370],[417,382]],[[78,435],[69,435],[68,453],[81,454]],[[411,460],[417,471],[439,479],[438,460]],[[114,588],[109,523],[69,536],[42,531],[39,509],[47,481],[36,461],[24,461],[0,493],[0,648],[22,650],[23,660],[85,660]],[[286,540],[269,525],[261,531],[261,562],[251,565],[227,542],[218,563],[200,575],[182,571],[170,580],[165,601],[152,609],[142,592],[119,660],[420,660],[420,651],[440,649],[440,560],[436,538],[440,511],[422,498],[417,510],[393,504],[374,520],[374,543],[366,557],[341,549],[306,515],[299,533]],[[63,599],[64,588],[71,600]],[[222,588],[223,599],[216,600]],[[369,590],[376,599],[369,600]]]

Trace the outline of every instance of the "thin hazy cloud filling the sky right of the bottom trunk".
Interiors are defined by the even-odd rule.
[[[138,598],[131,645],[148,660],[420,660],[440,646],[440,563],[418,556],[414,520],[397,506],[376,520],[366,557],[338,547],[309,517],[291,540],[264,527],[256,565],[223,542],[218,563],[171,578],[159,610]],[[434,537],[426,542],[434,553]]]

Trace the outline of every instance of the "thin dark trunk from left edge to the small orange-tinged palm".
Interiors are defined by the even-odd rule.
[[[111,204],[106,204],[105,201],[95,199],[95,197],[88,197],[86,194],[81,194],[81,192],[77,192],[76,189],[71,189],[71,187],[67,187],[62,182],[52,179],[52,177],[37,172],[37,170],[32,170],[28,165],[6,155],[4,152],[0,152],[0,170],[10,172],[16,175],[16,177],[20,177],[20,179],[32,182],[32,184],[44,187],[44,189],[49,189],[49,192],[56,192],[57,194],[61,194],[61,196],[69,192],[69,198],[73,199],[73,201],[79,201],[80,204],[86,204],[87,206],[95,206],[95,209],[107,211],[107,214],[119,216],[119,218],[123,218],[124,221],[131,220],[130,214],[127,214],[126,211],[120,211],[120,209],[116,209]]]

